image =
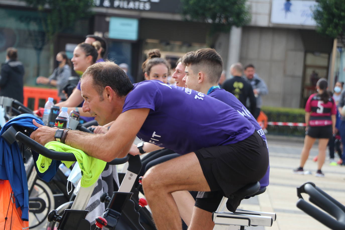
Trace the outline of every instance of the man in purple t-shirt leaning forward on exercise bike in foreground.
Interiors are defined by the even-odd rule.
[[[152,167],[142,181],[158,229],[181,229],[172,192],[219,191],[229,196],[266,173],[266,143],[247,119],[217,99],[157,80],[133,86],[112,62],[90,66],[81,77],[81,91],[83,111],[95,115],[100,125],[114,123],[106,134],[65,130],[61,142],[111,161],[126,156],[137,135],[182,155]],[[55,140],[56,129],[33,123],[39,128],[32,139],[43,145]],[[145,145],[142,149],[152,150]],[[190,229],[213,228],[206,204],[196,201]]]

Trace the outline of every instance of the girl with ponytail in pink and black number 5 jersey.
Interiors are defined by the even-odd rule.
[[[317,93],[312,94],[305,105],[306,136],[301,153],[300,165],[294,173],[304,174],[303,166],[308,159],[309,151],[316,139],[319,139],[319,154],[317,155],[317,171],[315,176],[324,177],[321,168],[326,158],[326,147],[329,138],[335,133],[336,105],[328,94],[328,83],[325,78],[317,81]]]

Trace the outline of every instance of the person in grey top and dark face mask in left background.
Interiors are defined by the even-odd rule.
[[[56,60],[59,62],[59,66],[53,71],[53,73],[48,77],[39,76],[36,79],[37,84],[46,84],[49,86],[54,86],[58,89],[58,95],[62,101],[67,98],[65,93],[62,92],[63,87],[68,83],[68,78],[71,77],[71,67],[72,62],[66,56],[66,53],[61,51],[56,55]]]

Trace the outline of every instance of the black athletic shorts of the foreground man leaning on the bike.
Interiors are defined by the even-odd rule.
[[[195,206],[214,212],[223,196],[259,181],[268,167],[268,151],[257,132],[247,139],[226,146],[195,151],[211,192],[199,192]],[[230,211],[235,211],[242,199],[229,199]]]

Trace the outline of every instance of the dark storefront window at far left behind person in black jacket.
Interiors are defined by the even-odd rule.
[[[37,76],[49,76],[49,45],[35,11],[0,9],[0,58],[6,49],[18,50],[18,60],[24,65],[24,84],[35,85]]]

